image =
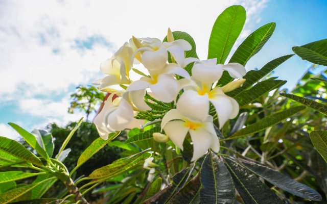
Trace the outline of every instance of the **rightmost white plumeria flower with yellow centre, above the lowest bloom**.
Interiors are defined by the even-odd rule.
[[[218,114],[219,127],[225,124],[228,119],[235,118],[239,113],[239,104],[232,97],[227,96],[224,92],[231,90],[230,85],[215,87],[213,83],[220,79],[223,70],[233,78],[242,78],[246,70],[238,63],[229,63],[227,65],[216,65],[217,59],[196,62],[192,68],[192,80],[182,80],[181,86],[184,87],[183,94],[177,102],[177,109],[184,116],[193,120],[204,120],[209,111],[209,102],[211,102]],[[244,79],[233,83],[241,86]]]

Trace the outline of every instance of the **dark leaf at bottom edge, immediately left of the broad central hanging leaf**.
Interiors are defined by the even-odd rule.
[[[190,176],[190,168],[184,168],[180,172],[176,173],[172,177],[172,184],[170,184],[165,189],[162,189],[158,193],[156,193],[153,197],[144,201],[145,204],[155,204],[155,203],[167,203],[172,196],[178,192],[188,181]]]

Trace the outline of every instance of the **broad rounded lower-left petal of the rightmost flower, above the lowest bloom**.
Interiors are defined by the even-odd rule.
[[[191,120],[204,121],[209,112],[208,95],[199,95],[191,89],[186,90],[177,101],[177,110]]]

